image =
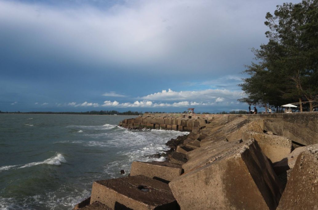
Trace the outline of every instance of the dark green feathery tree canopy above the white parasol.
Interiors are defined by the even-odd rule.
[[[246,66],[239,86],[245,93],[241,102],[263,107],[308,101],[313,111],[318,99],[318,0],[278,5],[267,12],[265,32],[269,39],[252,49],[255,60]]]

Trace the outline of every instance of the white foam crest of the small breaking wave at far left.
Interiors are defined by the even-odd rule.
[[[0,167],[0,172],[6,171],[6,170],[11,170],[11,169],[19,169],[19,168],[26,168],[26,167],[31,167],[31,166],[36,166],[39,164],[49,164],[49,165],[56,165],[59,166],[61,163],[66,163],[65,158],[63,155],[60,153],[57,153],[53,157],[46,159],[44,161],[39,161],[39,162],[32,162],[32,163],[27,163],[27,164],[21,164],[21,165],[14,165],[14,166],[2,166]]]

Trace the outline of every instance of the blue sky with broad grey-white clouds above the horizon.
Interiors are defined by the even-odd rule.
[[[247,110],[241,72],[284,2],[0,0],[0,111]]]

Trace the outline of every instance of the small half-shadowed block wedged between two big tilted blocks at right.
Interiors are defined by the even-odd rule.
[[[297,147],[296,149],[294,149],[293,152],[288,154],[286,158],[277,162],[273,166],[275,173],[277,175],[280,175],[281,173],[284,173],[285,171],[288,171],[289,169],[293,169],[298,156],[301,154],[301,152],[304,152],[306,148],[307,148],[306,146]]]

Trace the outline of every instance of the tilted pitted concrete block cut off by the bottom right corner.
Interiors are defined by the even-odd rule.
[[[298,156],[277,209],[318,209],[317,177],[318,144],[315,144]]]

